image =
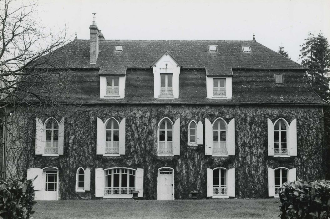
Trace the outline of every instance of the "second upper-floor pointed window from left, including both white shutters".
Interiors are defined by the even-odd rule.
[[[113,117],[104,123],[97,118],[96,154],[119,156],[125,154],[126,118],[120,123]]]

